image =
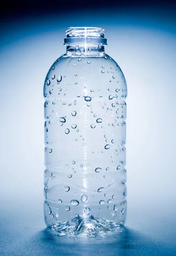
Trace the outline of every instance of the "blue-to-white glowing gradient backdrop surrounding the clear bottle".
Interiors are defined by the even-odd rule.
[[[0,256],[175,256],[176,9],[61,7],[0,23]],[[59,238],[44,224],[43,82],[69,26],[104,27],[127,80],[128,211],[118,236]]]

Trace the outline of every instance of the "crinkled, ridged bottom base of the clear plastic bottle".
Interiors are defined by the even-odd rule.
[[[83,235],[87,237],[96,237],[106,236],[108,232],[118,230],[123,226],[124,222],[122,221],[119,223],[113,223],[103,219],[95,219],[93,216],[78,216],[69,221],[52,224],[48,227],[56,231],[58,236]]]

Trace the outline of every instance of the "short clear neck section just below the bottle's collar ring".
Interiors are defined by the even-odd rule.
[[[96,52],[104,52],[104,45],[101,44],[69,44],[66,46],[67,53],[79,54],[95,54]]]

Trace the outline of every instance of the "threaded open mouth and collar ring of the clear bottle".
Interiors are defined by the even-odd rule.
[[[69,27],[66,30],[64,44],[101,44],[107,45],[104,29],[98,27]]]

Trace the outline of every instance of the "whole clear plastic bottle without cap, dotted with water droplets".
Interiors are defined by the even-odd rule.
[[[127,85],[104,29],[70,27],[44,82],[44,217],[58,232],[104,236],[124,225]]]

